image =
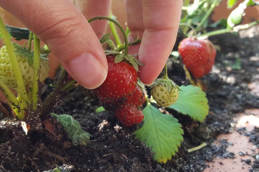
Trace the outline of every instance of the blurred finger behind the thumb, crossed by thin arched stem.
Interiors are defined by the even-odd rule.
[[[76,7],[79,11],[86,17],[87,20],[93,18],[95,16],[109,16],[110,15],[110,8],[111,8],[111,0],[77,0]],[[99,21],[92,21],[90,23],[95,34],[100,39],[102,34],[106,33],[108,21],[106,20],[99,20]]]

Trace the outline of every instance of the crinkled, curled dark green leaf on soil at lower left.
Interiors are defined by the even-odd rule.
[[[57,115],[52,113],[52,115],[62,124],[73,145],[87,145],[87,142],[90,139],[90,134],[82,130],[78,121],[73,119],[72,116],[66,114]]]

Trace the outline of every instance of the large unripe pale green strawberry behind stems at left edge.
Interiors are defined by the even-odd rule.
[[[28,53],[31,55],[30,53]],[[25,86],[32,88],[33,82],[33,65],[29,65],[28,58],[24,58],[26,55],[16,54],[18,64],[20,66],[22,77]],[[40,81],[44,81],[48,76],[49,64],[47,60],[41,59]],[[17,88],[14,72],[12,70],[12,64],[7,52],[6,46],[0,49],[0,79],[11,88]]]

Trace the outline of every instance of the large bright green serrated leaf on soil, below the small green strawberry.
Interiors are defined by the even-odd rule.
[[[136,130],[136,137],[147,145],[159,163],[171,160],[183,141],[183,129],[172,115],[162,114],[150,103],[143,110],[144,125]]]

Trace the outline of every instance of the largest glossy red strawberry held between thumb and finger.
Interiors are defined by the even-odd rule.
[[[108,74],[104,83],[94,91],[101,101],[129,96],[136,88],[138,73],[125,61],[114,63],[114,55],[107,55]]]

